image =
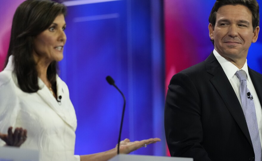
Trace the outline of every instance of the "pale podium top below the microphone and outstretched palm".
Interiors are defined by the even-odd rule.
[[[108,161],[193,161],[193,158],[118,154]]]

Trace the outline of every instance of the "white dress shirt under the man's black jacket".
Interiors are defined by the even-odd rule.
[[[262,111],[261,111],[261,105],[260,105],[260,102],[258,100],[258,95],[256,93],[256,90],[254,88],[252,80],[251,80],[249,73],[248,73],[247,59],[246,59],[244,66],[241,69],[238,69],[238,67],[236,67],[233,63],[231,63],[230,61],[228,61],[227,59],[222,57],[215,49],[213,50],[213,53],[214,53],[216,59],[218,60],[219,64],[222,66],[224,72],[226,73],[227,78],[228,78],[229,82],[231,83],[231,86],[233,87],[241,106],[242,106],[242,103],[241,103],[241,97],[240,97],[240,91],[239,91],[239,84],[240,83],[239,83],[239,79],[235,75],[235,73],[238,70],[244,70],[247,73],[247,88],[249,89],[250,93],[253,96],[256,115],[257,115],[257,121],[258,121],[258,131],[259,131],[260,143],[261,143],[261,147],[262,147],[262,127],[261,127],[262,126],[262,119],[261,119]]]

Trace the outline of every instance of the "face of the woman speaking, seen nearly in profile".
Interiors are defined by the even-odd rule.
[[[33,55],[37,61],[60,61],[63,59],[63,48],[66,43],[65,17],[58,15],[48,29],[35,37]],[[50,63],[49,62],[49,63]]]

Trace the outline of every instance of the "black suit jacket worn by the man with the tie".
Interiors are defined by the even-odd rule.
[[[262,105],[262,75],[248,71]],[[171,156],[194,161],[254,160],[241,105],[213,53],[174,75],[168,87],[165,132]]]

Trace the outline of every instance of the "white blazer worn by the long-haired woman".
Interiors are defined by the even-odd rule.
[[[0,132],[7,133],[10,126],[26,129],[27,139],[21,148],[37,149],[40,161],[79,161],[80,157],[74,155],[77,119],[66,83],[57,76],[61,103],[40,78],[40,90],[23,92],[13,74],[12,60],[10,56],[7,67],[0,72]]]

